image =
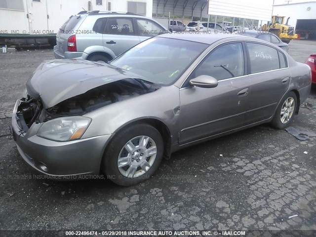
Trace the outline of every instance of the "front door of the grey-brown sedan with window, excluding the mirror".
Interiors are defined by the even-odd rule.
[[[249,91],[244,51],[241,41],[217,46],[182,85],[180,145],[242,126]],[[191,86],[190,79],[201,75],[214,77],[218,86]]]

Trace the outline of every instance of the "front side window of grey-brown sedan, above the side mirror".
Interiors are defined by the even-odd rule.
[[[201,75],[211,76],[217,80],[243,76],[242,44],[230,43],[216,48],[197,66],[189,79]]]

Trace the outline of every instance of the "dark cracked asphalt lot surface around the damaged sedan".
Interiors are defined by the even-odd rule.
[[[316,41],[290,43],[298,61],[312,52]],[[268,125],[176,152],[133,187],[40,179],[8,124],[26,80],[52,58],[51,49],[0,54],[0,230],[316,230],[316,138]],[[307,102],[316,107],[315,87]],[[316,132],[315,123],[316,109],[301,108],[292,126]]]

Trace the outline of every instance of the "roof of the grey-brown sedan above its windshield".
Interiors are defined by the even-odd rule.
[[[171,33],[171,34],[163,34],[157,37],[170,38],[170,39],[179,39],[179,40],[191,40],[200,43],[212,44],[215,41],[229,38],[243,38],[249,39],[246,36],[234,35],[234,34],[223,34],[219,32],[218,34],[203,34],[203,33]]]

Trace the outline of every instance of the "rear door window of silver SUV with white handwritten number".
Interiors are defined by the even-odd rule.
[[[105,26],[105,34],[133,35],[134,29],[130,18],[108,18]]]

